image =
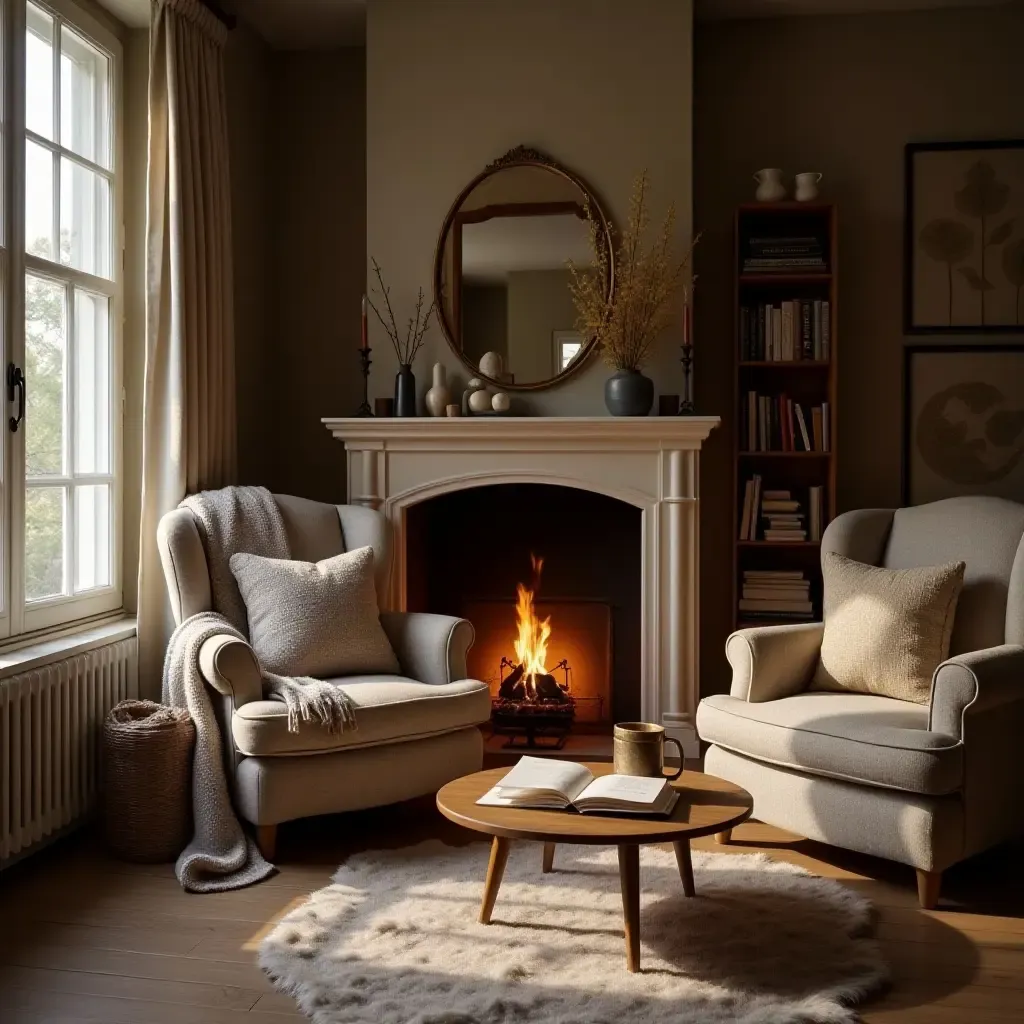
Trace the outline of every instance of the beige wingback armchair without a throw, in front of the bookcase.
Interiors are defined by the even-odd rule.
[[[1022,537],[1024,505],[996,498],[839,516],[823,552],[967,563],[930,702],[808,691],[820,623],[739,630],[730,692],[697,710],[707,770],[749,790],[762,821],[911,865],[934,906],[946,867],[1024,830]]]

